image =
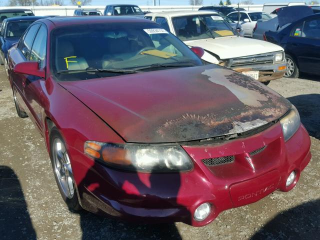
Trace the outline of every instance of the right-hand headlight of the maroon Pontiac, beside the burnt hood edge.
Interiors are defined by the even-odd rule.
[[[300,116],[295,106],[292,105],[291,110],[280,120],[280,123],[284,141],[287,141],[300,126]]]

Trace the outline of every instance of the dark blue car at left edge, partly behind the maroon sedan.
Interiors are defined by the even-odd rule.
[[[46,18],[45,16],[17,16],[5,18],[0,27],[0,64],[7,62],[8,49],[18,40],[25,29],[37,19]]]

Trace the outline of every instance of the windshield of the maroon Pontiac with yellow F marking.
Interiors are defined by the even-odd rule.
[[[51,67],[58,80],[128,74],[129,70],[139,68],[159,70],[166,65],[202,64],[183,42],[155,23],[64,26],[53,30],[51,42]],[[99,72],[92,73],[94,69]],[[123,72],[115,72],[119,70]]]

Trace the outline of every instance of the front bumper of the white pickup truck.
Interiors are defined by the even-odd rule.
[[[286,69],[286,62],[275,64],[252,64],[246,66],[231,67],[231,69],[243,72],[243,71],[259,71],[258,81],[270,81],[283,77]]]

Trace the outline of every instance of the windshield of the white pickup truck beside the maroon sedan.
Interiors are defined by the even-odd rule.
[[[182,41],[234,35],[230,25],[216,14],[173,17],[172,22]]]

